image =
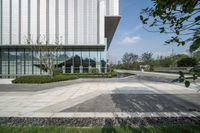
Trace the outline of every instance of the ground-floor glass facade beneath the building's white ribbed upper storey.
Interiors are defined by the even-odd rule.
[[[23,48],[0,49],[0,77],[14,78],[22,75],[48,74],[44,66],[44,58],[48,51],[34,51]],[[67,49],[63,48],[53,54],[53,65],[65,73],[88,73],[89,68],[97,68],[106,72],[105,51],[99,49]],[[48,59],[48,58],[46,58]],[[72,67],[73,66],[73,67]],[[82,71],[81,71],[82,70]]]

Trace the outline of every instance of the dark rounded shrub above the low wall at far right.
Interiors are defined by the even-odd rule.
[[[197,60],[194,58],[183,58],[177,61],[178,67],[194,67],[197,65]]]

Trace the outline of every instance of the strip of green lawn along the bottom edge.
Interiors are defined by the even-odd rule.
[[[200,133],[200,126],[168,125],[142,127],[0,126],[1,133]]]

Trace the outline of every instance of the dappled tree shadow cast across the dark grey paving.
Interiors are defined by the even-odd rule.
[[[123,88],[113,92],[118,90]],[[200,111],[200,105],[192,102],[200,100],[199,94],[111,94],[111,97],[115,107],[122,112]]]

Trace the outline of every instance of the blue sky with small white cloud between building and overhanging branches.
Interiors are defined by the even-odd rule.
[[[120,60],[125,52],[141,55],[149,51],[154,57],[186,53],[188,46],[164,45],[169,34],[151,33],[143,29],[139,19],[142,9],[151,6],[150,0],[120,0],[121,21],[109,49],[109,55]]]

